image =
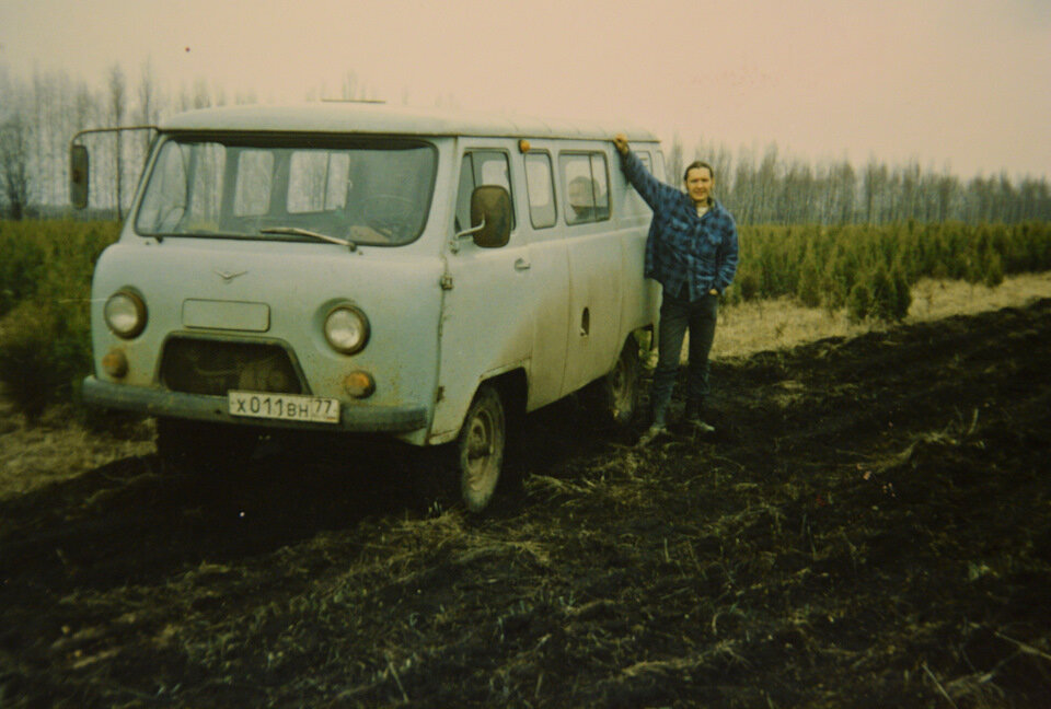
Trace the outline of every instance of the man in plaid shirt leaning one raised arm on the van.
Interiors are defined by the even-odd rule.
[[[679,372],[682,340],[690,330],[690,368],[685,420],[697,429],[715,429],[701,418],[708,393],[708,352],[715,339],[719,295],[737,271],[737,224],[712,197],[712,166],[694,162],[683,175],[685,194],[654,177],[631,151],[627,138],[613,138],[621,168],[654,210],[646,241],[646,278],[663,288],[658,327],[658,359],[650,393],[652,425],[639,443],[667,430],[668,407]]]

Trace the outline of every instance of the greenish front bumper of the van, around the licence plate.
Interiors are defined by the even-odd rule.
[[[148,416],[241,423],[282,429],[311,431],[353,431],[357,433],[407,433],[427,426],[427,409],[423,406],[368,406],[343,404],[338,423],[311,423],[278,419],[242,418],[231,416],[227,397],[183,394],[161,388],[127,386],[103,382],[94,376],[84,379],[81,396],[84,404],[100,408],[138,411]]]

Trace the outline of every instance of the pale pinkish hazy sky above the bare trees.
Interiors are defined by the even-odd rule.
[[[1051,173],[1051,0],[0,0],[0,70],[648,127],[806,162]],[[2,96],[0,96],[2,103]]]

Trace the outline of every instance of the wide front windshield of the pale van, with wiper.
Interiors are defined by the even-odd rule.
[[[170,137],[135,217],[145,236],[415,241],[427,221],[436,151],[420,141],[307,136]]]

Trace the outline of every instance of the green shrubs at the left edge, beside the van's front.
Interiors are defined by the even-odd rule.
[[[0,221],[0,384],[30,418],[91,370],[91,274],[116,222]]]

